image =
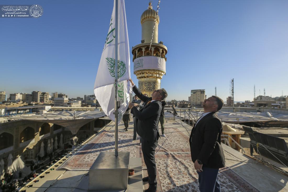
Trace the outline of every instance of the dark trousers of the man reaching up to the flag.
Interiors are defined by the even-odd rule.
[[[143,153],[143,158],[145,165],[147,167],[148,172],[148,183],[149,185],[156,186],[157,180],[156,180],[156,163],[155,163],[155,149],[158,145],[158,140],[154,142],[149,142],[142,138],[141,141],[141,148]]]

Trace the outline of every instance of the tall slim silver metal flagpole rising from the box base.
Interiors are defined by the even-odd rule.
[[[118,156],[118,0],[115,0],[115,156]]]

